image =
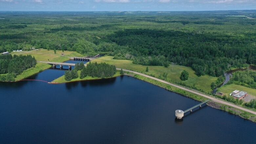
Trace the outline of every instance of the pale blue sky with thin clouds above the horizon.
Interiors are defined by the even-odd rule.
[[[256,0],[0,0],[0,11],[255,10]]]

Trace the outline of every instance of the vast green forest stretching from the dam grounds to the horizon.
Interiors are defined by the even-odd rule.
[[[0,52],[43,48],[220,76],[256,64],[256,10],[0,12]]]

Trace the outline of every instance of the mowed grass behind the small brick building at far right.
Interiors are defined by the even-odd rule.
[[[224,85],[218,88],[218,92],[221,92],[226,95],[229,95],[229,93],[232,93],[235,90],[243,91],[256,97],[256,89],[251,89],[251,88],[247,88],[247,87],[236,85],[236,84]]]

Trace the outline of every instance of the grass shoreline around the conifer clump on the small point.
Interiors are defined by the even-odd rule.
[[[78,71],[79,76],[80,76],[80,73],[81,73],[81,71]],[[117,71],[116,74],[114,74],[112,77],[117,77],[117,76],[120,76],[120,72],[119,71]],[[110,77],[106,77],[106,78],[110,78]],[[52,82],[53,83],[66,83],[66,82],[81,81],[81,80],[93,80],[93,79],[101,79],[101,78],[100,77],[86,76],[83,79],[78,77],[78,78],[72,79],[71,81],[66,81],[65,77],[63,75],[63,76],[61,76],[61,77],[59,77],[57,79],[54,79]]]

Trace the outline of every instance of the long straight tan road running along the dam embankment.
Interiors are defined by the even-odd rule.
[[[121,69],[117,68],[117,70],[121,70]],[[142,76],[145,76],[145,77],[148,77],[148,78],[151,78],[151,79],[160,81],[160,82],[162,82],[162,83],[165,83],[165,84],[174,86],[174,87],[176,87],[176,88],[180,88],[180,89],[182,89],[182,90],[185,90],[185,91],[188,91],[188,92],[191,92],[191,93],[195,93],[195,94],[201,95],[201,96],[203,96],[203,97],[206,97],[206,98],[208,98],[208,99],[211,99],[212,101],[215,101],[215,102],[218,102],[218,103],[221,103],[221,104],[224,104],[224,105],[228,105],[228,106],[231,106],[231,107],[234,107],[234,108],[237,108],[237,109],[240,109],[240,110],[249,112],[249,113],[256,114],[255,111],[252,111],[252,110],[249,110],[249,109],[245,109],[245,108],[243,108],[243,107],[234,105],[234,104],[232,104],[232,103],[229,103],[229,102],[226,102],[226,101],[223,101],[223,100],[220,100],[220,99],[217,99],[217,98],[214,98],[214,97],[211,97],[211,96],[202,94],[202,93],[198,93],[198,92],[195,92],[195,91],[193,91],[193,90],[189,90],[189,89],[183,88],[183,87],[181,87],[181,86],[178,86],[178,85],[169,83],[169,82],[167,82],[167,81],[164,81],[164,80],[161,80],[161,79],[158,79],[158,78],[155,78],[155,77],[153,77],[153,76],[149,76],[149,75],[146,75],[146,74],[143,74],[143,73],[139,73],[139,72],[135,72],[135,71],[131,71],[131,70],[125,70],[125,69],[123,69],[123,71],[125,71],[125,72],[132,72],[132,73],[135,73],[135,74],[139,74],[139,75],[142,75]]]

